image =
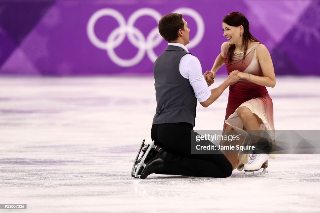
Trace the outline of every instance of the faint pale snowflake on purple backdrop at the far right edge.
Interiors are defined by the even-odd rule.
[[[318,3],[310,5],[302,18],[297,22],[293,41],[298,43],[302,38],[309,46],[313,38],[320,43],[320,6]]]

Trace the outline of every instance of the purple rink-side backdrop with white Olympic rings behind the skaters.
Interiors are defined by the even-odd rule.
[[[158,19],[176,10],[203,71],[226,41],[222,18],[238,11],[267,46],[276,75],[320,75],[320,2],[308,0],[0,1],[0,74],[151,75],[166,46]]]

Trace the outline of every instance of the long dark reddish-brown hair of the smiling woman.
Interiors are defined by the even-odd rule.
[[[252,42],[260,42],[258,39],[256,39],[249,31],[250,27],[249,27],[249,21],[244,17],[244,15],[240,12],[231,12],[228,15],[226,15],[222,22],[233,26],[233,27],[238,27],[240,25],[243,26],[243,34],[242,34],[242,43],[241,43],[241,47],[240,49],[244,48],[244,57],[245,54],[247,53],[248,50],[248,43],[249,41]],[[234,54],[234,50],[236,48],[235,44],[230,45],[228,52],[227,52],[227,59],[228,59],[228,64],[231,62],[232,60],[232,56]],[[244,61],[244,57],[243,57],[243,61]]]

